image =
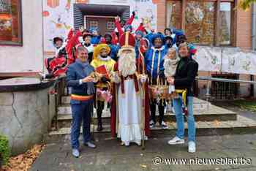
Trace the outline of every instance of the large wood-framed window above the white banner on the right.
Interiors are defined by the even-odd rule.
[[[183,29],[196,45],[232,45],[232,0],[167,1],[167,27]]]

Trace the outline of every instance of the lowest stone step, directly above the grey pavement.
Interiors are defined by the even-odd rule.
[[[176,123],[167,122],[168,129],[162,129],[160,126],[155,126],[151,129],[153,137],[170,136],[176,132]],[[94,135],[99,137],[108,134],[110,136],[110,125],[104,125],[102,132],[97,131],[97,126],[91,125],[91,132],[94,129]],[[255,134],[256,133],[256,121],[238,115],[237,121],[197,121],[197,136],[200,135],[217,135],[217,134]],[[185,129],[187,132],[187,122],[185,123]],[[82,131],[81,131],[82,132]],[[64,127],[56,131],[51,131],[45,137],[46,141],[54,139],[59,136],[69,136],[70,127]]]

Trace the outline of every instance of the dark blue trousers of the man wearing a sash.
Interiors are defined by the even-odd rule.
[[[83,143],[91,140],[91,115],[93,113],[94,100],[78,101],[71,100],[72,125],[71,125],[71,146],[79,148],[80,126],[83,121]]]

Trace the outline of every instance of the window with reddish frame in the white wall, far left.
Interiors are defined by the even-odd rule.
[[[22,45],[21,0],[0,0],[0,45]]]

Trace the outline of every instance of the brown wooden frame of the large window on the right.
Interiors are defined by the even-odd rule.
[[[186,7],[188,1],[195,1],[195,0],[167,0],[166,3],[170,3],[171,1],[181,1],[181,28],[185,31],[186,28]],[[237,10],[233,10],[237,4],[237,0],[204,0],[204,1],[214,1],[215,3],[215,17],[214,17],[214,46],[221,46],[221,47],[236,47],[236,18],[237,18]],[[219,40],[219,31],[220,31],[220,3],[221,2],[230,2],[231,3],[231,17],[230,17],[230,44],[221,44]],[[167,5],[166,5],[167,7]],[[167,11],[167,9],[166,9]],[[167,26],[167,13],[165,16],[165,26]],[[186,34],[186,33],[185,33]],[[202,45],[200,43],[196,43],[195,45]],[[209,46],[209,45],[202,45],[202,46]]]

